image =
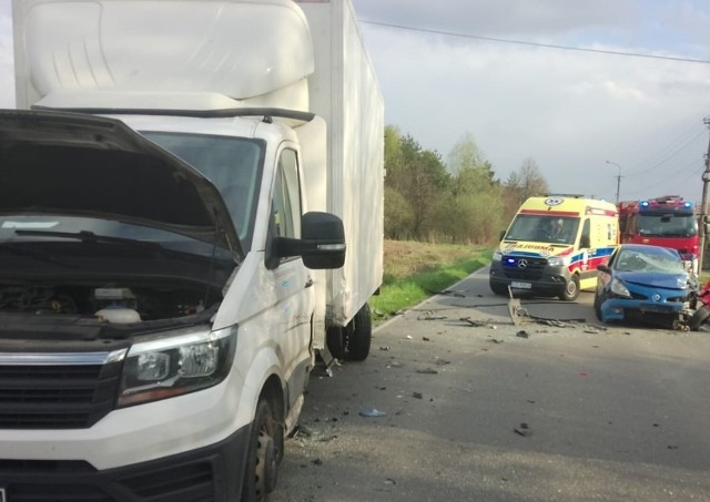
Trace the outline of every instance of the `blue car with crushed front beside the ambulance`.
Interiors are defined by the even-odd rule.
[[[608,321],[635,321],[687,329],[697,283],[676,249],[622,244],[599,265],[595,311]]]

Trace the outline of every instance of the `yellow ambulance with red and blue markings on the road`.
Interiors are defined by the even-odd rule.
[[[574,301],[581,289],[596,287],[597,266],[618,244],[615,204],[582,195],[530,197],[493,254],[490,289]]]

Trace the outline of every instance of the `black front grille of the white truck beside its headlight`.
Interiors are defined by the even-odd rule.
[[[114,406],[121,363],[0,366],[0,429],[85,429]]]

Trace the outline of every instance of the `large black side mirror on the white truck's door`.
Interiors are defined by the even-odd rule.
[[[345,227],[329,213],[311,212],[301,218],[301,238],[277,237],[278,258],[301,256],[307,268],[341,268],[345,263]]]

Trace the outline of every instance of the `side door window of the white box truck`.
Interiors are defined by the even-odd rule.
[[[278,160],[272,199],[272,225],[278,237],[301,238],[298,163],[293,150],[284,150]]]

